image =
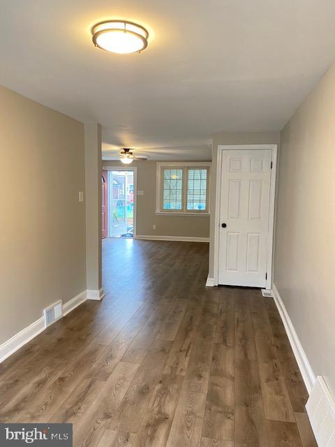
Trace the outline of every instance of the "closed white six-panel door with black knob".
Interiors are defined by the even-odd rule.
[[[271,161],[271,149],[223,150],[218,284],[266,286]]]

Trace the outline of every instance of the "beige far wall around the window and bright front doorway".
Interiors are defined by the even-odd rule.
[[[124,166],[103,161],[103,166]],[[156,161],[133,162],[137,167],[137,235],[209,237],[209,216],[160,216],[156,211]],[[152,226],[156,223],[156,230]]]

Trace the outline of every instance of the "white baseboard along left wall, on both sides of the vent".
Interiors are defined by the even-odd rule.
[[[68,300],[63,305],[63,316],[73,311],[73,309],[81,305],[86,300],[87,291],[83,291],[82,293],[79,293],[79,295],[76,295]],[[13,337],[8,339],[6,342],[0,344],[0,363],[24,346],[24,344],[30,342],[31,339],[40,334],[40,332],[43,332],[43,330],[45,330],[45,319],[42,316],[41,318],[38,318],[38,320],[34,321],[34,323],[27,326],[27,328],[20,330],[20,332],[17,332],[17,334],[13,335]]]

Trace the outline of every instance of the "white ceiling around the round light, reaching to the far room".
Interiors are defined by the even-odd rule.
[[[0,84],[82,122],[103,147],[210,159],[211,135],[278,131],[335,58],[334,0],[0,0]],[[142,54],[93,24],[149,29]]]

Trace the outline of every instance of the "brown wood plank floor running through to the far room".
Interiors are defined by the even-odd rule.
[[[73,423],[74,446],[316,446],[274,300],[205,288],[208,246],[103,240],[87,301],[0,367],[1,422]]]

